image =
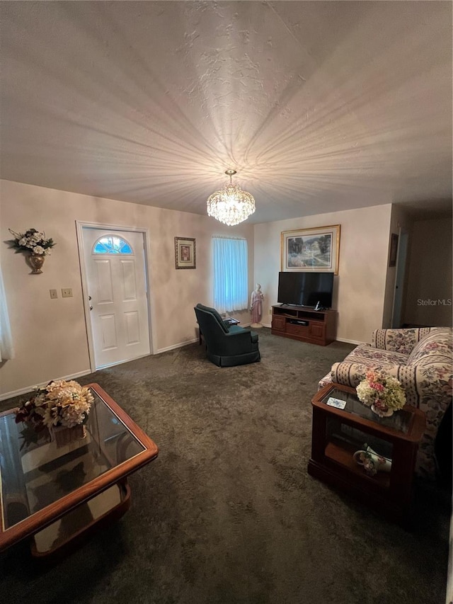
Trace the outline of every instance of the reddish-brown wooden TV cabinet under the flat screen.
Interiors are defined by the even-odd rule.
[[[314,310],[290,304],[272,307],[271,333],[275,336],[327,346],[336,339],[336,325],[336,310]]]

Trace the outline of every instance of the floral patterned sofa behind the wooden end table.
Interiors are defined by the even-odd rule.
[[[393,375],[406,391],[407,404],[425,412],[426,430],[418,449],[415,471],[421,477],[436,475],[435,438],[452,402],[452,329],[376,329],[372,343],[360,344],[319,382],[356,387],[369,369]]]

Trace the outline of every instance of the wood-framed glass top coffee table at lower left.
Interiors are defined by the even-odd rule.
[[[37,556],[58,551],[130,507],[127,476],[159,448],[98,384],[86,435],[57,446],[47,430],[0,414],[0,551],[34,537]]]

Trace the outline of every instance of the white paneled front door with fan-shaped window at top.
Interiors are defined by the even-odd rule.
[[[96,369],[149,355],[143,233],[83,227]]]

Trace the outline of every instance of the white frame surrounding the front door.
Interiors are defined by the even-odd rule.
[[[148,300],[148,330],[149,330],[149,353],[154,354],[156,345],[154,342],[154,330],[153,319],[154,319],[154,300],[153,292],[151,292],[151,242],[149,239],[149,229],[142,227],[127,227],[124,224],[106,224],[105,222],[86,222],[84,220],[76,220],[76,233],[77,233],[77,247],[79,249],[79,266],[80,276],[82,285],[82,296],[84,298],[84,314],[85,314],[85,328],[86,328],[86,339],[88,343],[88,357],[90,361],[91,372],[96,371],[96,361],[94,355],[94,341],[93,341],[93,330],[91,329],[91,318],[90,318],[90,301],[88,300],[88,280],[86,278],[86,267],[84,259],[84,235],[83,229],[105,229],[108,231],[117,232],[134,232],[143,234],[144,243],[144,266],[145,266],[145,285],[147,287],[147,300]],[[113,365],[110,365],[113,366]]]

